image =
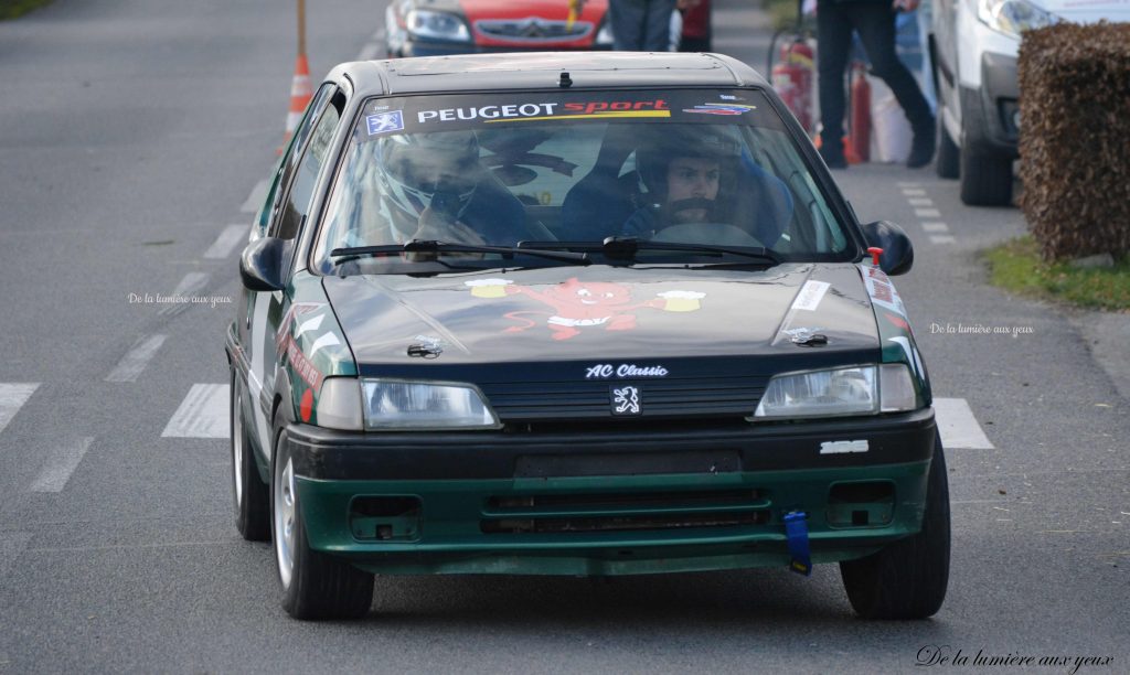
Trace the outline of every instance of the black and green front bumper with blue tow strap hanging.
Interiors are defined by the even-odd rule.
[[[808,514],[814,562],[914,534],[935,433],[925,409],[537,437],[292,424],[287,442],[310,545],[363,569],[629,575],[785,566],[791,511]],[[820,454],[836,440],[868,449]]]

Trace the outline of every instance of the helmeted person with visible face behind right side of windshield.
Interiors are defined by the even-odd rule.
[[[650,239],[676,225],[720,220],[719,193],[732,181],[741,146],[716,125],[683,125],[636,149],[636,169],[646,189],[644,204],[621,234]]]

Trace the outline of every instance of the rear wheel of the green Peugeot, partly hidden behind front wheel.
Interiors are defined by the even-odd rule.
[[[266,542],[271,537],[270,491],[259,476],[254,450],[247,438],[243,417],[246,387],[232,371],[229,433],[232,452],[232,500],[235,505],[235,528],[249,542]]]

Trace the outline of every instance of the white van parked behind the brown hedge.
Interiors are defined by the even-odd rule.
[[[1130,21],[1127,0],[935,0],[930,53],[938,84],[938,175],[962,201],[1008,205],[1020,107],[1016,59],[1025,30],[1068,20]]]

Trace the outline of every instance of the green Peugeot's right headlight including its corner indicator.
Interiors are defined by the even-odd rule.
[[[918,407],[910,370],[902,363],[777,375],[750,421],[868,415]]]

